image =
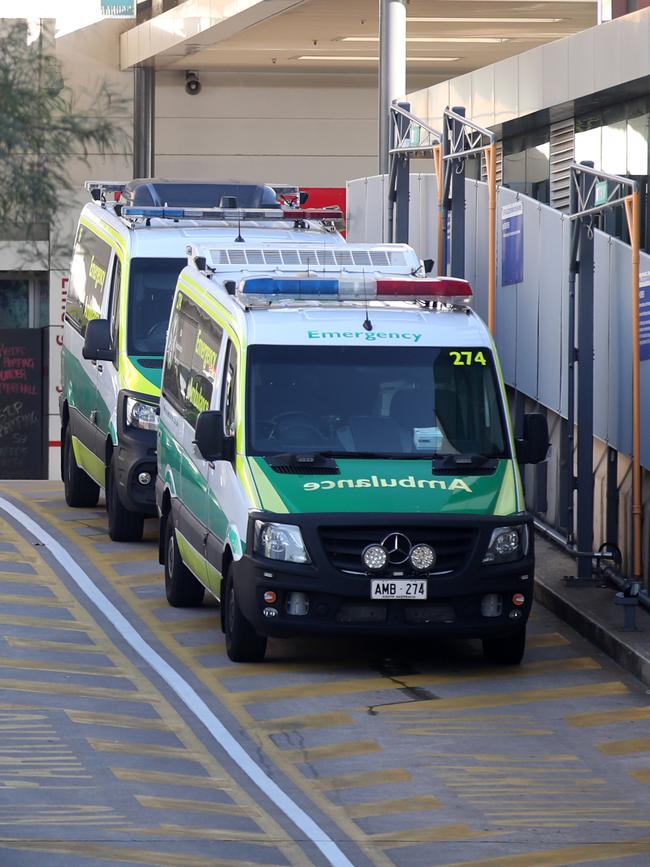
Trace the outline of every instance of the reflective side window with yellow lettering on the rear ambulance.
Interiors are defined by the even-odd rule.
[[[89,320],[99,319],[111,248],[85,226],[80,226],[70,268],[66,317],[81,334]]]

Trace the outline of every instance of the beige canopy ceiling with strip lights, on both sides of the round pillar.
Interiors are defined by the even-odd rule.
[[[373,73],[378,0],[186,0],[122,35],[121,65]],[[411,0],[409,78],[446,80],[596,23],[595,0]]]

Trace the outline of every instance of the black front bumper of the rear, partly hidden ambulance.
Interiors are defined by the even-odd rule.
[[[156,512],[156,431],[138,430],[126,425],[126,398],[135,397],[155,402],[150,395],[121,391],[117,403],[118,444],[113,451],[117,461],[117,485],[122,505],[131,512],[153,517]],[[148,473],[150,481],[143,485],[140,473]]]

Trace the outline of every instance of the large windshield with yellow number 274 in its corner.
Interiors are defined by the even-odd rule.
[[[249,454],[508,456],[482,347],[254,345],[248,383]]]

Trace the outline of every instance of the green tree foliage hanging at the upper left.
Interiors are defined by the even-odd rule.
[[[28,37],[25,21],[0,29],[0,225],[19,238],[54,224],[71,157],[88,164],[129,146],[130,101],[106,82],[73,92],[47,39]]]

